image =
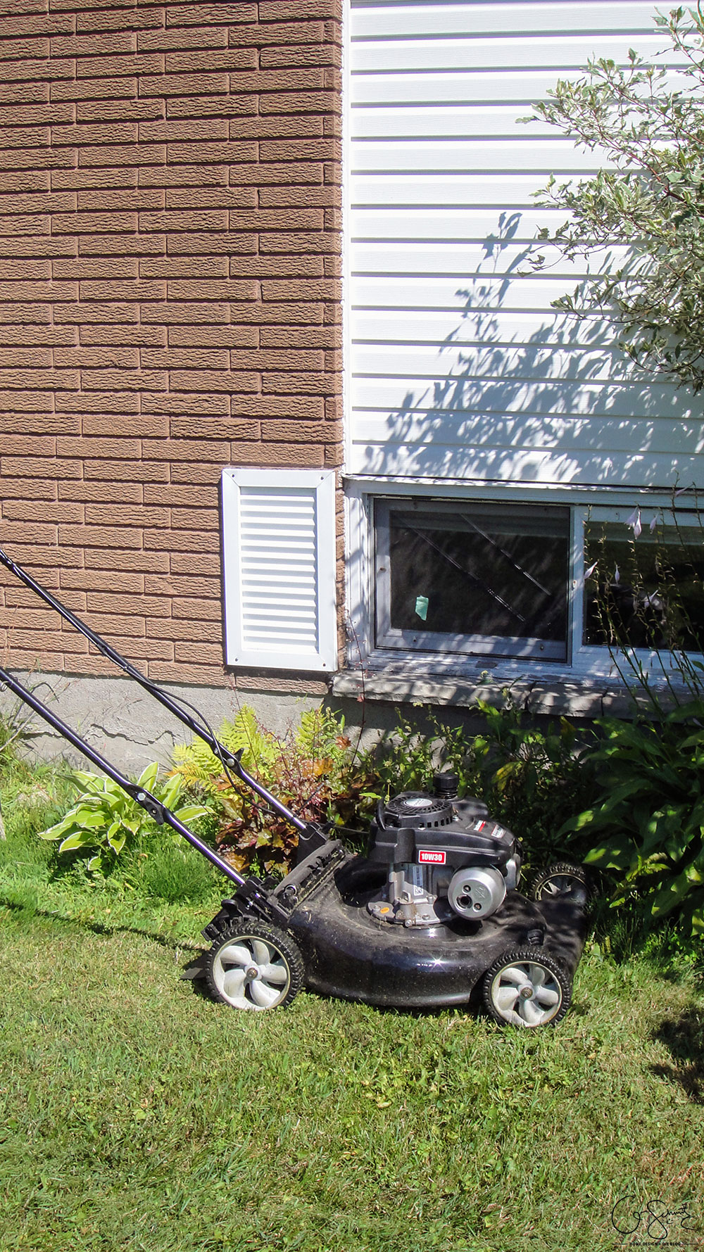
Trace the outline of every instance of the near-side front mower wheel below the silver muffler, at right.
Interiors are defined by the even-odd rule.
[[[569,975],[540,948],[509,949],[484,975],[486,1012],[500,1025],[556,1025],[570,1007]]]

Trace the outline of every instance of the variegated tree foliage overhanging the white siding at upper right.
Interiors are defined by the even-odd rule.
[[[629,51],[628,65],[593,60],[585,76],[560,81],[535,105],[579,146],[604,153],[594,178],[539,193],[541,207],[569,220],[550,240],[574,260],[626,245],[626,259],[586,279],[554,307],[580,316],[605,313],[639,366],[695,392],[704,387],[704,15],[659,14],[669,35],[669,68]],[[526,119],[532,120],[532,119]],[[542,268],[546,258],[534,264]]]

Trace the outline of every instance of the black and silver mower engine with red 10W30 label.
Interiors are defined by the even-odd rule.
[[[380,801],[368,860],[388,865],[386,888],[367,904],[382,921],[433,926],[455,915],[491,916],[519,885],[520,845],[481,800],[457,799],[457,776],[436,774],[435,794],[401,791]]]

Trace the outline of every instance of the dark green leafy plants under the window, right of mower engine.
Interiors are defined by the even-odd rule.
[[[530,865],[567,854],[616,871],[610,904],[626,918],[704,931],[704,697],[669,714],[654,702],[650,720],[595,719],[581,741],[564,717],[536,727],[509,695],[476,709],[485,726],[474,737],[437,721],[425,736],[401,719],[373,752],[370,791],[427,789],[451,767]]]

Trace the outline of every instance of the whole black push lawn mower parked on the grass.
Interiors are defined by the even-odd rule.
[[[588,914],[581,866],[559,863],[519,891],[519,839],[457,777],[438,771],[432,791],[380,801],[368,849],[346,849],[332,823],[304,821],[243,767],[188,701],[159,687],[1,548],[0,562],[105,657],[154,696],[238,779],[298,833],[297,863],[276,883],[246,878],[154,795],[100,752],[6,670],[0,682],[167,824],[233,884],[202,931],[210,942],[184,977],[236,1009],[289,1004],[302,987],[395,1009],[467,1007],[482,999],[500,1024],[555,1025],[570,1004]]]

